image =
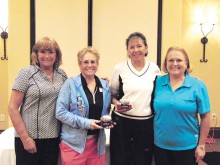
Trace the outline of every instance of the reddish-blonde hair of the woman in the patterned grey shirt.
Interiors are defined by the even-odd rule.
[[[54,69],[58,69],[59,66],[62,64],[62,52],[60,50],[59,45],[57,42],[49,37],[41,38],[32,48],[31,53],[31,64],[32,65],[38,65],[40,67],[39,61],[38,61],[38,52],[42,50],[55,50],[56,52],[56,60],[53,65]]]

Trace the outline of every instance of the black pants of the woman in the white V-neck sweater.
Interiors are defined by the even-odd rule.
[[[110,133],[111,165],[151,165],[153,118],[127,119],[112,113],[116,125]]]

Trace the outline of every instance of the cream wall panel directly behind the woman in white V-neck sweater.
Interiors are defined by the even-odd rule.
[[[111,77],[116,63],[127,58],[125,40],[142,32],[148,42],[148,59],[156,62],[158,2],[155,0],[95,0],[93,44],[101,54],[99,75]],[[135,5],[134,5],[135,4]]]

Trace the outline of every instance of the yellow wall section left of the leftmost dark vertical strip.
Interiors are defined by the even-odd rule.
[[[8,7],[8,61],[0,61],[0,113],[5,114],[6,120],[0,122],[0,130],[11,125],[7,106],[12,84],[18,71],[23,66],[29,65],[30,61],[30,2],[29,0],[9,0]]]

